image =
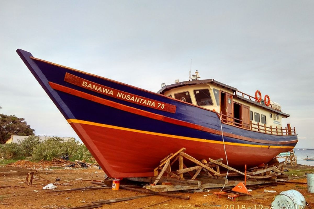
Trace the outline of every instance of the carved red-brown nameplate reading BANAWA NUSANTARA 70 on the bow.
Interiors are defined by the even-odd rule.
[[[86,80],[84,78],[74,76],[70,73],[65,74],[64,81],[71,83],[73,85],[76,85],[76,86],[80,86],[84,89],[95,91],[97,93],[100,93],[109,97],[117,98],[120,100],[124,100],[127,102],[132,102],[134,104],[138,104],[138,105],[142,105],[145,107],[150,107],[150,108],[154,108],[154,109],[158,109],[158,110],[162,110],[166,112],[172,112],[172,113],[176,112],[175,105],[167,104],[165,102],[160,102],[157,100],[131,94],[125,91],[120,91],[114,88],[110,88],[108,86],[104,86],[104,85]]]

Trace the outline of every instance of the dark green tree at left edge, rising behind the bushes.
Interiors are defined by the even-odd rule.
[[[0,144],[4,144],[11,135],[33,135],[35,130],[31,129],[24,120],[24,118],[18,118],[15,115],[0,113]]]

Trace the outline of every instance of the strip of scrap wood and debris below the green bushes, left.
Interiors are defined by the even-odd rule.
[[[83,161],[69,161],[64,159],[53,158],[51,161],[41,160],[39,162],[31,162],[29,160],[18,160],[15,163],[9,163],[7,167],[26,167],[26,168],[47,168],[47,167],[72,167],[72,168],[88,168],[98,167],[97,163],[91,164]]]

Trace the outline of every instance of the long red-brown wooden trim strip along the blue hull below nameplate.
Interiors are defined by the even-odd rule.
[[[176,124],[176,125],[180,125],[180,126],[185,126],[185,127],[188,127],[188,128],[202,130],[202,131],[205,131],[205,132],[208,132],[208,133],[222,135],[221,131],[218,131],[218,130],[215,130],[215,129],[212,129],[212,128],[203,127],[203,126],[196,125],[196,124],[193,124],[193,123],[177,120],[177,119],[174,119],[174,118],[168,118],[168,117],[165,117],[163,115],[159,115],[159,114],[155,114],[155,113],[152,113],[152,112],[147,112],[147,111],[144,111],[144,110],[140,110],[140,109],[137,109],[137,108],[134,108],[134,107],[129,107],[129,106],[117,103],[117,102],[112,102],[112,101],[109,101],[109,100],[106,100],[106,99],[103,99],[103,98],[100,98],[100,97],[96,97],[96,96],[84,93],[82,91],[78,91],[78,90],[75,90],[75,89],[72,89],[72,88],[68,88],[66,86],[62,86],[62,85],[59,85],[59,84],[56,84],[56,83],[53,83],[53,82],[49,82],[49,85],[51,86],[51,88],[53,88],[53,89],[55,89],[57,91],[62,91],[62,92],[65,92],[65,93],[68,93],[68,94],[71,94],[71,95],[74,95],[74,96],[77,96],[77,97],[81,97],[81,98],[84,98],[84,99],[87,99],[87,100],[90,100],[90,101],[93,101],[93,102],[97,102],[97,103],[100,103],[100,104],[103,104],[103,105],[107,105],[109,107],[117,108],[117,109],[120,109],[120,110],[123,110],[123,111],[126,111],[126,112],[131,112],[131,113],[138,114],[138,115],[141,115],[141,116],[144,116],[144,117],[148,117],[148,118],[153,118],[153,119],[156,119],[156,120],[164,121],[166,123],[172,123],[172,124]],[[232,137],[232,138],[236,138],[236,139],[240,139],[240,140],[244,140],[244,141],[250,141],[250,142],[255,142],[255,143],[265,143],[265,144],[290,144],[290,143],[295,143],[295,142],[298,141],[298,140],[292,140],[292,141],[286,141],[286,142],[268,141],[268,140],[263,140],[263,139],[252,139],[252,138],[249,138],[249,137],[239,136],[239,135],[236,135],[236,134],[226,133],[226,132],[224,133],[224,136],[228,136],[228,137]]]

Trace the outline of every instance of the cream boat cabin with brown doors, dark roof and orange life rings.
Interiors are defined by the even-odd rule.
[[[256,96],[250,96],[214,79],[196,78],[164,85],[158,93],[215,111],[230,125],[277,135],[295,134],[295,127],[282,124],[290,115],[281,112],[280,105],[269,97],[264,101],[258,90]]]

